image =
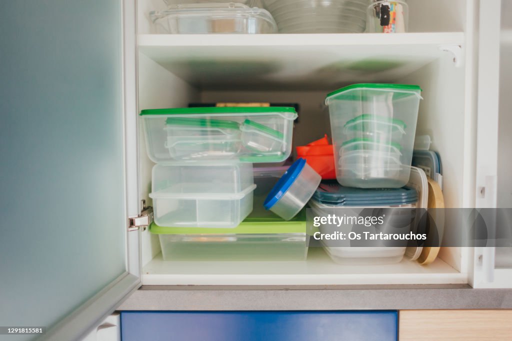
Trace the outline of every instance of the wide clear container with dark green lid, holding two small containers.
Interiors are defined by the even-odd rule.
[[[227,160],[282,162],[291,154],[294,108],[203,107],[143,110],[153,162]],[[250,121],[246,123],[246,121]]]

